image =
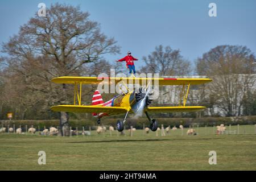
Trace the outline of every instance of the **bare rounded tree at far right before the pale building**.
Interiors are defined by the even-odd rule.
[[[255,56],[245,46],[217,46],[197,59],[197,73],[213,78],[207,92],[226,116],[241,115],[246,96],[253,92],[254,60]]]

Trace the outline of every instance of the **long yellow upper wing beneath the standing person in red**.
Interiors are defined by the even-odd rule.
[[[153,85],[198,85],[212,81],[209,78],[140,78],[140,77],[73,77],[63,76],[53,78],[52,81],[57,84],[117,84],[124,82],[125,84],[146,85],[151,80]]]

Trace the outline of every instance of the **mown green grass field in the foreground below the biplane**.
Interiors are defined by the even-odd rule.
[[[165,137],[142,130],[133,137],[128,131],[112,137],[109,131],[78,137],[0,134],[0,170],[256,170],[254,125],[240,126],[239,135],[195,129],[199,135],[187,136],[184,129],[181,136],[178,129]],[[216,165],[208,163],[212,150]],[[46,165],[38,164],[39,151],[46,151]]]

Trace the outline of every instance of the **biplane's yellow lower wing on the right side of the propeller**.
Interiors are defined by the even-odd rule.
[[[150,113],[175,113],[175,112],[194,112],[204,110],[203,106],[163,106],[147,107],[146,111]]]

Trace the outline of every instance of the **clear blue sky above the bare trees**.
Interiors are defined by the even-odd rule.
[[[155,46],[180,49],[192,62],[222,44],[247,46],[256,52],[256,1],[216,0],[84,0],[84,1],[1,1],[0,42],[7,42],[38,11],[38,4],[68,3],[89,11],[90,19],[101,24],[101,30],[121,46],[121,55],[107,55],[110,61],[131,51],[143,65],[142,56]],[[217,17],[209,17],[209,3],[217,5]]]

